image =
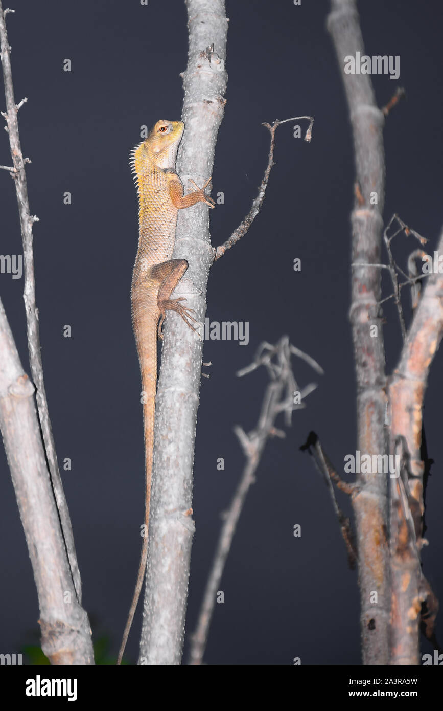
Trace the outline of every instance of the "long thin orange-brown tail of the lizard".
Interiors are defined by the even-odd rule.
[[[155,316],[149,310],[137,309],[133,301],[133,328],[136,336],[138,360],[140,362],[141,383],[144,392],[143,402],[143,429],[145,436],[145,471],[146,471],[146,495],[145,495],[145,530],[143,545],[141,547],[140,565],[138,565],[137,582],[134,590],[128,619],[120,645],[117,664],[121,663],[121,658],[126,647],[129,631],[131,629],[133,616],[136,612],[138,598],[140,597],[143,579],[145,577],[146,562],[148,560],[148,530],[149,530],[149,508],[151,501],[151,479],[153,468],[154,449],[154,416],[155,416],[155,392],[157,390],[157,322]]]

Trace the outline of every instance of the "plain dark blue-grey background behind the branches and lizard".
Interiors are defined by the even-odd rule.
[[[140,379],[131,331],[129,289],[137,243],[136,193],[128,153],[139,127],[180,118],[179,73],[187,62],[181,0],[46,0],[9,3],[16,100],[35,225],[35,274],[50,413],[94,638],[111,638],[116,653],[136,579],[143,516],[143,437]],[[366,52],[400,55],[400,80],[373,77],[383,106],[398,85],[408,99],[385,127],[385,220],[397,211],[436,245],[443,222],[441,3],[405,0],[361,3]],[[219,132],[211,213],[212,243],[226,240],[256,196],[268,155],[261,122],[315,116],[310,145],[278,129],[263,211],[248,235],[214,264],[207,316],[249,321],[250,343],[207,341],[195,451],[194,510],[187,633],[195,626],[219,513],[239,479],[243,456],[234,424],[256,423],[265,373],[238,380],[262,340],[288,333],[326,371],[317,378],[295,361],[304,385],[318,380],[305,412],[295,412],[284,441],[266,447],[229,555],[206,661],[209,664],[361,663],[356,574],[347,566],[339,526],[307,454],[315,429],[337,467],[355,452],[355,386],[349,310],[349,211],[354,167],[349,121],[324,0],[228,1],[230,18],[224,121]],[[72,60],[72,72],[62,60]],[[0,99],[0,105],[4,100]],[[6,133],[0,164],[9,164]],[[20,254],[16,198],[0,175],[0,251]],[[63,205],[64,191],[72,205]],[[399,240],[396,256],[415,248]],[[302,272],[292,260],[302,259]],[[22,280],[0,277],[0,295],[28,370]],[[385,294],[390,284],[384,283]],[[405,300],[408,304],[408,299]],[[400,348],[392,306],[385,309],[388,371]],[[72,338],[62,337],[64,324]],[[442,353],[432,366],[425,422],[435,460],[427,497],[424,570],[443,594],[441,434]],[[281,424],[281,423],[280,423]],[[224,457],[225,471],[217,471]],[[35,639],[38,602],[13,488],[1,454],[1,645],[20,652]],[[343,497],[341,505],[349,511]],[[302,525],[302,538],[292,528]],[[138,611],[127,653],[136,660]],[[443,624],[439,621],[439,636]],[[429,651],[428,643],[423,651]]]

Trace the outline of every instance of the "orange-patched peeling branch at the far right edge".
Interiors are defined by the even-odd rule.
[[[443,253],[443,232],[438,250]],[[442,334],[443,276],[432,274],[389,387],[390,451],[395,452],[400,441],[408,459],[407,479],[391,479],[391,664],[420,663],[420,609],[429,594],[420,565],[424,513],[422,407],[430,365]]]

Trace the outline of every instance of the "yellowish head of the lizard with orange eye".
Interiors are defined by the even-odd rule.
[[[146,162],[157,168],[174,168],[178,144],[185,130],[182,121],[158,121],[148,137],[133,151],[133,168],[140,175]]]

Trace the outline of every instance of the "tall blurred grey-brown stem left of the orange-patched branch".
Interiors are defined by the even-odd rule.
[[[354,138],[356,201],[351,213],[351,328],[357,382],[357,448],[361,454],[385,454],[385,354],[377,303],[381,299],[380,264],[385,192],[383,113],[376,106],[371,78],[345,74],[344,58],[364,54],[355,0],[332,0],[328,28],[334,41]],[[373,204],[376,202],[376,204]],[[372,338],[371,326],[376,326]],[[390,616],[387,536],[388,484],[380,474],[361,474],[353,499],[359,548],[361,638],[364,664],[388,663]],[[377,592],[378,604],[371,604]]]

